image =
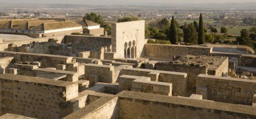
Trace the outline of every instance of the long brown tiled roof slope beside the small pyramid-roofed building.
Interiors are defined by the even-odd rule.
[[[65,29],[65,28],[69,28],[69,27],[82,27],[82,25],[79,25],[72,21],[44,23],[44,30]]]

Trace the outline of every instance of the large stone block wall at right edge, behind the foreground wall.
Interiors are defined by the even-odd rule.
[[[202,88],[202,95],[207,100],[251,105],[256,93],[256,81],[200,74],[197,77],[197,94],[201,94],[199,90]]]

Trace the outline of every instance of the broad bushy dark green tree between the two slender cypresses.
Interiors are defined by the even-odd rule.
[[[186,43],[191,45],[197,44],[197,32],[195,30],[195,26],[193,23],[190,23],[187,28],[185,29],[184,39]],[[186,37],[186,38],[185,38]]]

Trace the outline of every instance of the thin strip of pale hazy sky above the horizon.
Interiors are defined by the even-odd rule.
[[[0,3],[72,3],[85,5],[141,4],[141,3],[228,3],[256,2],[256,0],[0,0]]]

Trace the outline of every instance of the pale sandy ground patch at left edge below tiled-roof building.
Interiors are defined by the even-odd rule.
[[[13,34],[0,34],[0,37],[4,39],[4,41],[16,41],[23,39],[33,39],[32,37],[28,37],[26,35],[13,35]]]

